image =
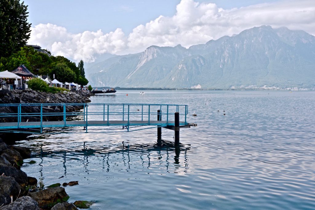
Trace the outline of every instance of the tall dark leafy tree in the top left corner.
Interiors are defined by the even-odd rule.
[[[0,1],[0,57],[9,57],[26,44],[31,32],[27,14],[27,5],[20,0]]]

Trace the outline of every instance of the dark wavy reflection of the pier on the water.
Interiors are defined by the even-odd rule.
[[[81,150],[46,152],[41,149],[38,154],[32,155],[32,157],[60,158],[62,156],[64,175],[67,173],[67,161],[71,160],[82,162],[85,172],[89,173],[89,158],[91,157],[101,157],[100,161],[103,163],[102,170],[105,172],[115,170],[117,162],[123,164],[125,170],[128,172],[130,170],[130,165],[139,166],[140,157],[140,165],[144,168],[150,169],[152,166],[159,165],[160,167],[165,167],[167,173],[179,173],[180,168],[185,168],[181,173],[186,173],[188,167],[187,151],[189,150],[190,147],[188,145],[179,144],[174,146],[172,142],[163,140],[158,140],[155,144],[146,145],[129,145],[122,142],[113,149],[103,147],[102,150],[88,148],[84,142]],[[115,154],[121,155],[122,158],[115,160]],[[180,156],[182,156],[182,159],[180,159]],[[133,157],[135,157],[135,160],[133,160]],[[133,161],[137,161],[137,164],[134,164]],[[157,164],[157,162],[159,164]],[[172,169],[170,169],[170,164],[173,166]]]

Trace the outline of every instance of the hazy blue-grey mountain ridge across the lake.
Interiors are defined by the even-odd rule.
[[[254,27],[184,48],[150,46],[86,68],[92,86],[149,88],[315,87],[315,37]]]

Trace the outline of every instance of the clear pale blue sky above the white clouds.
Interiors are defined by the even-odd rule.
[[[29,22],[33,26],[51,23],[65,27],[69,32],[114,31],[122,28],[130,33],[140,24],[154,20],[159,15],[173,16],[180,0],[25,0]],[[275,0],[199,0],[215,3],[223,9],[246,7]]]

